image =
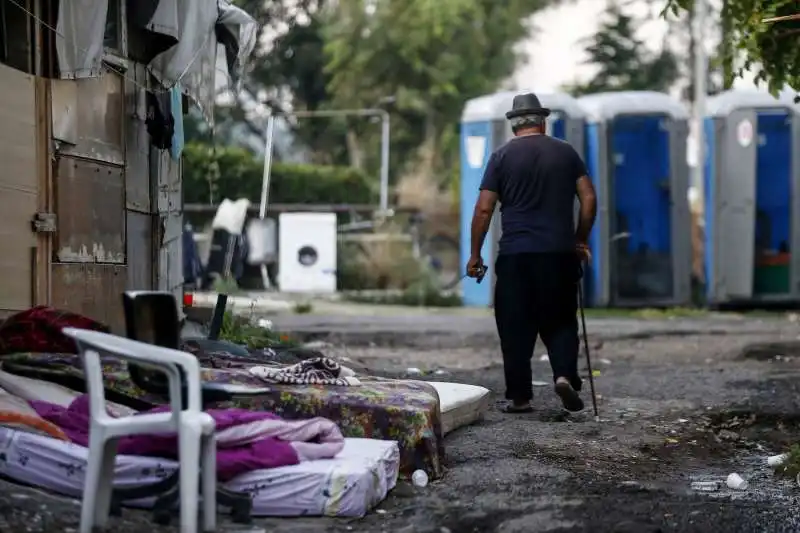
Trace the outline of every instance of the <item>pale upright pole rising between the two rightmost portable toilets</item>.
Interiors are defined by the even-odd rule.
[[[694,109],[693,122],[695,127],[695,166],[692,169],[692,185],[705,197],[703,190],[703,168],[705,167],[706,137],[703,122],[706,111],[706,79],[708,77],[707,57],[705,47],[706,0],[694,2]]]

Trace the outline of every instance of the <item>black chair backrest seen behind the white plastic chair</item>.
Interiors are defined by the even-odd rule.
[[[180,345],[180,321],[175,296],[162,291],[122,293],[125,311],[125,335],[129,339],[177,350]],[[158,395],[169,394],[167,376],[157,370],[128,363],[131,381],[140,389]]]

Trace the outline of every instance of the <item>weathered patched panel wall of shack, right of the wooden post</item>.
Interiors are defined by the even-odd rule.
[[[51,83],[52,304],[121,330],[124,290],[182,290],[181,166],[150,144],[143,65]]]

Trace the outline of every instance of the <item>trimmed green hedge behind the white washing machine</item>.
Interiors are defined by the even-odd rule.
[[[218,203],[223,198],[261,198],[263,160],[244,148],[188,143],[183,150],[186,203]],[[209,177],[211,182],[209,183]],[[270,203],[368,204],[376,198],[377,179],[351,167],[274,163]]]

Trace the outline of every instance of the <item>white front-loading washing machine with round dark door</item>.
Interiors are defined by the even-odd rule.
[[[284,292],[336,292],[336,214],[278,218],[278,285]]]

